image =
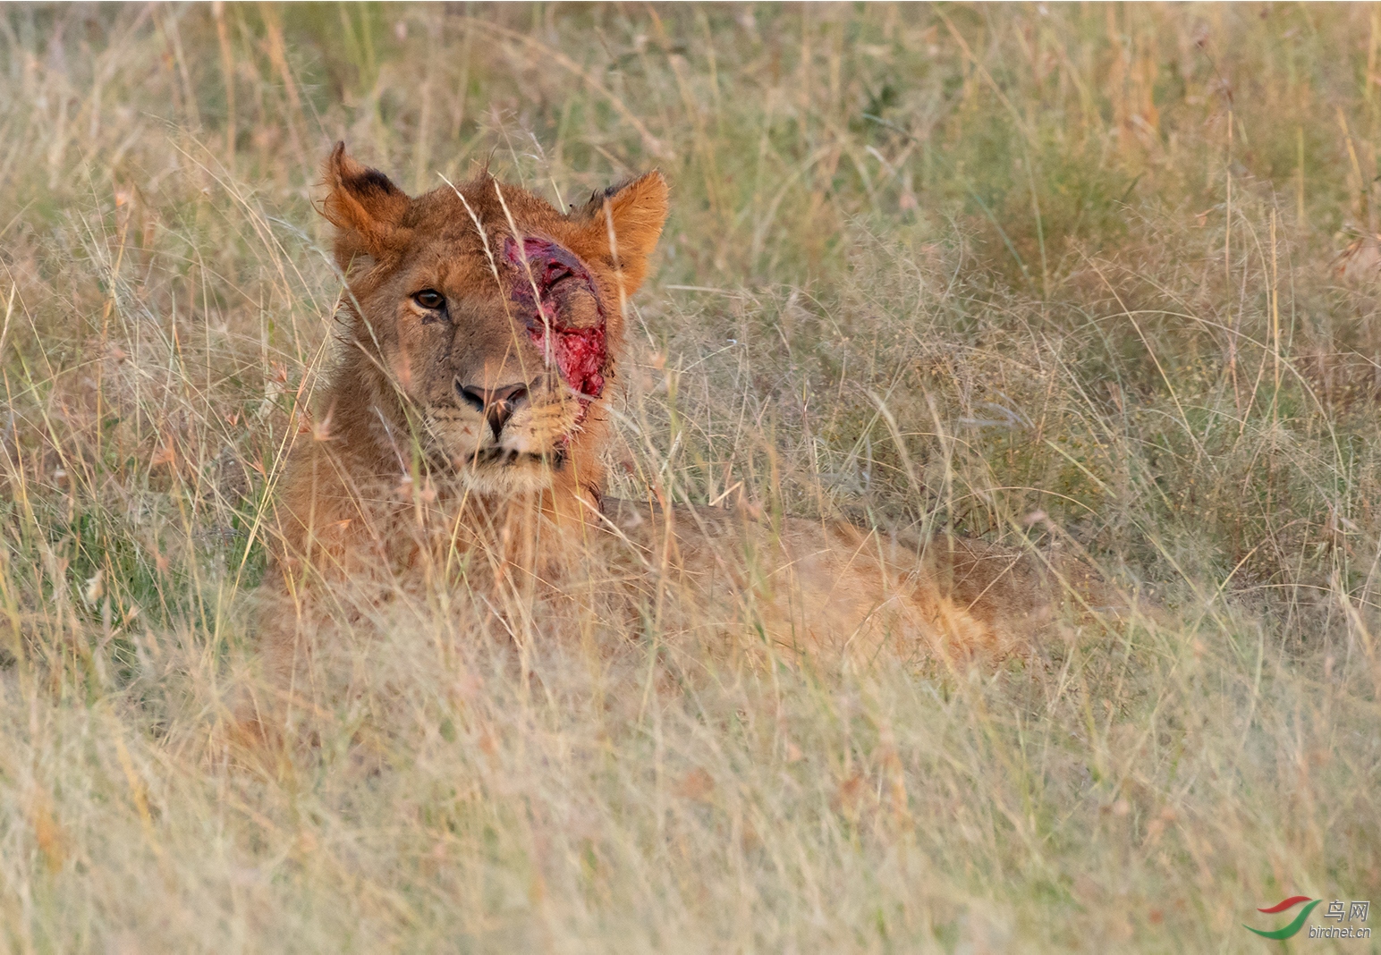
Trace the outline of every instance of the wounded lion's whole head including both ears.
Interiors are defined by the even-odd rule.
[[[660,174],[569,214],[487,175],[412,199],[340,146],[327,184],[352,345],[402,393],[429,455],[492,493],[579,466],[666,218]]]

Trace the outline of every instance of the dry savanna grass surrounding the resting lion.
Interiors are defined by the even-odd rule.
[[[1381,903],[1378,59],[1366,6],[0,8],[0,938],[1248,952]],[[441,588],[236,762],[337,139],[666,173],[616,494],[1066,548],[1130,610],[811,665]]]

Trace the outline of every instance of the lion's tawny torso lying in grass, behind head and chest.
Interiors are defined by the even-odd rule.
[[[696,613],[747,622],[793,653],[1001,657],[1045,629],[1079,560],[960,537],[920,540],[840,520],[606,501],[610,530]]]

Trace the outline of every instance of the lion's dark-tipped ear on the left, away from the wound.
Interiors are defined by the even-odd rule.
[[[412,200],[378,170],[356,163],[337,142],[326,159],[322,213],[336,226],[336,261],[342,270],[360,254],[381,258],[396,244]]]

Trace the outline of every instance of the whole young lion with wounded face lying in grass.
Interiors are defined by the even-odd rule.
[[[326,185],[348,294],[280,495],[269,588],[298,613],[264,617],[279,686],[312,651],[294,621],[313,588],[457,563],[472,591],[656,582],[804,651],[1005,653],[1050,617],[1047,564],[979,542],[605,498],[624,304],[667,217],[659,173],[561,213],[487,174],[409,197],[340,144]]]

